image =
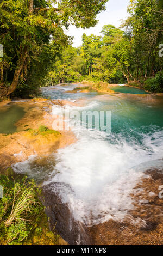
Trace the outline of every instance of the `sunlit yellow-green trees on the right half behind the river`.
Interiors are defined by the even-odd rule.
[[[109,24],[102,28],[102,36],[83,34],[82,47],[71,48],[74,56],[71,55],[72,65],[68,63],[68,69],[72,76],[70,72],[68,76],[62,74],[64,79],[58,78],[54,83],[82,80],[128,82],[162,92],[163,58],[159,56],[159,47],[163,43],[163,10],[155,0],[131,0],[128,13],[130,16],[123,21],[121,28]],[[66,65],[70,56],[65,53],[63,56],[62,64]],[[78,65],[75,66],[74,62]],[[57,69],[56,72],[59,74]],[[78,75],[74,76],[73,72]]]

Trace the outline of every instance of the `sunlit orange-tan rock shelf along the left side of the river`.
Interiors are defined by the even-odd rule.
[[[45,156],[55,150],[74,142],[72,132],[49,132],[52,130],[53,117],[51,107],[64,102],[36,99],[18,102],[3,102],[3,106],[17,105],[24,109],[26,114],[17,121],[17,131],[13,134],[0,134],[0,168],[5,172],[11,164],[25,161],[30,155]],[[1,102],[2,105],[2,102]],[[40,126],[48,127],[49,131],[36,132]]]

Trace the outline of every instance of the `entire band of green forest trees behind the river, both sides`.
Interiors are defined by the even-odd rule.
[[[64,29],[95,26],[106,2],[2,0],[0,99],[41,96],[39,87],[83,80],[163,92],[163,7],[158,1],[130,0],[129,17],[120,28],[105,25],[101,36],[84,33],[82,46],[71,46]]]

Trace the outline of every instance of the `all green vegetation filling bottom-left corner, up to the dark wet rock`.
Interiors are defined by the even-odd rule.
[[[11,173],[11,172],[10,172]],[[0,245],[57,245],[59,235],[47,224],[40,188],[27,177],[0,175]]]

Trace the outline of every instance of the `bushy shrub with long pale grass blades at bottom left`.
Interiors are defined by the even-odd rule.
[[[0,185],[4,191],[0,199],[0,242],[22,242],[43,214],[44,207],[38,199],[40,190],[33,180],[15,182],[4,175],[0,175]]]

